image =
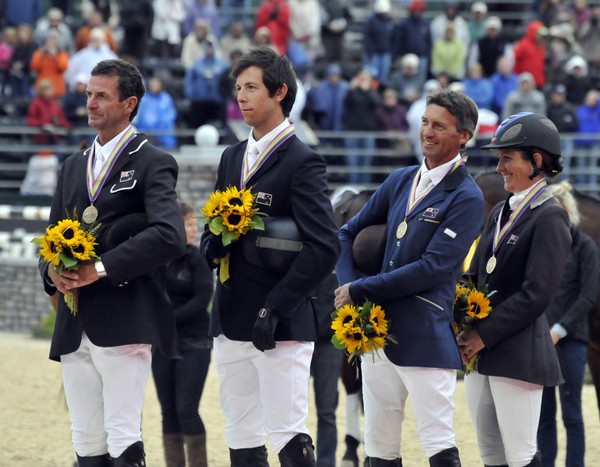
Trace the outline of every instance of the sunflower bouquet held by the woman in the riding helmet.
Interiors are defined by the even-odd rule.
[[[454,331],[460,334],[473,327],[473,325],[482,319],[485,319],[492,312],[490,297],[496,291],[488,292],[487,285],[475,287],[472,282],[461,281],[456,284],[456,295],[454,297]],[[479,354],[475,354],[469,360],[465,368],[465,374],[475,371]]]

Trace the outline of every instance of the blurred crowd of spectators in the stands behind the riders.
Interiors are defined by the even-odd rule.
[[[43,11],[41,0],[4,2],[0,117],[11,123],[27,123],[37,86],[49,80],[70,125],[81,126],[73,94],[95,63],[118,56],[140,66],[148,82],[160,82],[147,112],[162,108],[165,95],[172,101],[173,111],[145,116],[147,131],[223,128],[239,119],[227,79],[232,60],[268,46],[296,67],[306,99],[294,115],[315,130],[352,132],[324,141],[345,145],[351,165],[364,165],[382,147],[360,132],[414,133],[419,121],[407,117],[411,107],[427,90],[447,86],[477,102],[489,131],[515,112],[548,114],[552,96],[560,94],[573,119],[564,131],[596,132],[578,118],[600,113],[593,104],[600,89],[600,6],[587,0],[511,3],[513,11],[506,2],[447,0],[50,3]],[[15,98],[25,104],[15,105]],[[159,144],[177,144],[163,136]],[[597,145],[588,135],[574,147]],[[356,181],[371,181],[366,172]]]

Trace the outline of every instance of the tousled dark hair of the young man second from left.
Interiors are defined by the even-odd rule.
[[[286,84],[288,92],[281,101],[283,114],[288,117],[296,100],[298,85],[296,83],[296,73],[289,59],[279,55],[269,47],[260,47],[242,55],[231,69],[230,76],[234,80],[246,69],[255,66],[263,71],[263,83],[269,91],[269,96],[273,97],[275,93]]]

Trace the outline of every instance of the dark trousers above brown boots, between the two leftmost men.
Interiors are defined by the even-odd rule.
[[[206,433],[198,413],[212,348],[211,337],[182,339],[177,356],[152,356],[152,375],[162,413],[163,434],[195,436]]]

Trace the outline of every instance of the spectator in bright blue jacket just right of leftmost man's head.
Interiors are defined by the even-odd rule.
[[[173,97],[164,90],[163,82],[158,76],[148,80],[148,92],[140,104],[134,124],[140,131],[155,131],[158,146],[172,149],[177,146],[173,134],[177,120],[177,109]]]

